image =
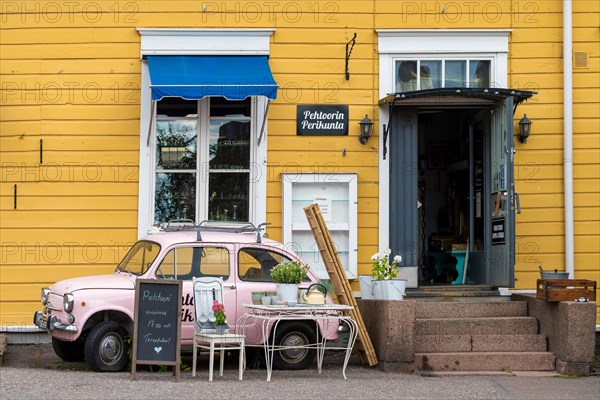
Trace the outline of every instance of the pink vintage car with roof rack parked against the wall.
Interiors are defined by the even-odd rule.
[[[138,278],[183,281],[181,344],[185,346],[192,344],[194,335],[193,277],[223,278],[227,320],[232,325],[244,314],[243,304],[252,303],[252,292],[276,290],[270,274],[273,266],[299,260],[281,243],[261,237],[260,229],[251,224],[186,228],[171,227],[142,238],[113,274],[67,279],[42,289],[44,309],[35,313],[34,323],[52,336],[56,354],[65,361],[85,359],[94,371],[123,370]],[[301,288],[317,281],[309,271]],[[275,341],[288,346],[314,343],[316,329],[314,323],[293,321],[278,327]],[[321,334],[337,337],[337,331],[330,329]],[[249,335],[246,340],[249,345],[263,341],[262,335]],[[276,368],[303,369],[314,357],[314,350],[291,348],[277,352],[273,361]]]

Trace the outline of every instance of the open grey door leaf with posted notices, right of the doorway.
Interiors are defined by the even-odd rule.
[[[468,276],[473,282],[512,287],[515,260],[512,97],[469,118],[468,132]]]

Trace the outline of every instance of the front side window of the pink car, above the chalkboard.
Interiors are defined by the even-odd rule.
[[[191,280],[193,277],[229,278],[229,250],[223,247],[176,247],[156,270],[159,279]]]

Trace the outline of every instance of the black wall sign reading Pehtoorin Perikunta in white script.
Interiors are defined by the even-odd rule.
[[[296,109],[296,134],[343,136],[348,134],[347,105],[300,105]]]

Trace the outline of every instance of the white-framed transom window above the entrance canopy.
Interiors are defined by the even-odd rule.
[[[506,87],[510,30],[381,29],[379,97],[448,87]]]

